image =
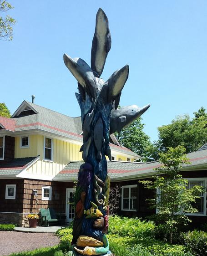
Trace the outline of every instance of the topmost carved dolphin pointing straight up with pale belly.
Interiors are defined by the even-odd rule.
[[[109,21],[105,12],[99,8],[96,14],[96,28],[91,48],[91,69],[100,77],[106,57],[111,49],[111,34],[109,31]]]

